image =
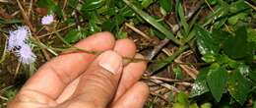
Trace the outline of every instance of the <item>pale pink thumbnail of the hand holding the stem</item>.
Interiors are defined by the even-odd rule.
[[[114,51],[106,51],[98,58],[98,65],[112,74],[118,74],[122,67],[122,57]]]

